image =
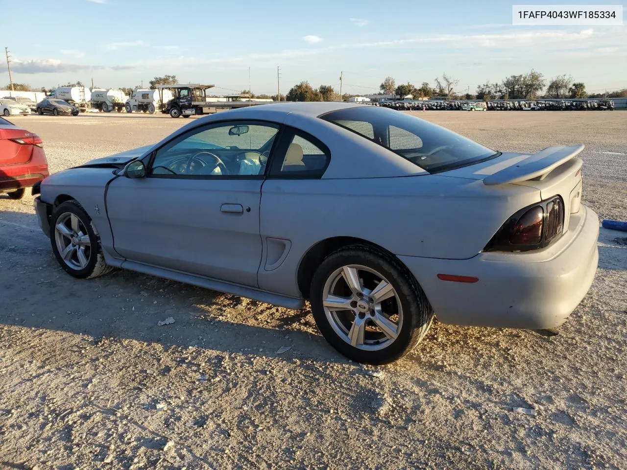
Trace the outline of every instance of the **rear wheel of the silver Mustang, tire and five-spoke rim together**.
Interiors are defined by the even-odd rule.
[[[403,357],[433,319],[408,269],[369,246],[330,254],[315,272],[310,294],[320,333],[356,362],[384,364]]]

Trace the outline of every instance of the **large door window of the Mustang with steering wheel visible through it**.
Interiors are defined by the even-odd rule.
[[[273,123],[242,121],[194,129],[157,150],[149,174],[262,176],[278,128]]]

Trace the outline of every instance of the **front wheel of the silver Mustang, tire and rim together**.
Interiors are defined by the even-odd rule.
[[[95,278],[113,269],[105,263],[92,219],[78,202],[67,201],[55,207],[50,223],[52,251],[70,276]]]

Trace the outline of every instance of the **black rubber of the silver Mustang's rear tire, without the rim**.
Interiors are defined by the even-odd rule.
[[[391,283],[403,308],[403,322],[398,337],[379,350],[363,350],[350,345],[330,325],[322,305],[327,279],[342,266],[359,264],[381,273]],[[409,353],[431,326],[433,309],[423,290],[409,270],[390,254],[371,246],[348,246],[330,254],[320,264],[312,279],[310,291],[312,313],[320,333],[336,350],[356,362],[385,364]]]

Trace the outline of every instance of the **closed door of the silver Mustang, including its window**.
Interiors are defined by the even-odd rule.
[[[279,125],[194,128],[153,152],[142,178],[107,191],[117,253],[137,263],[257,287],[265,161]]]

